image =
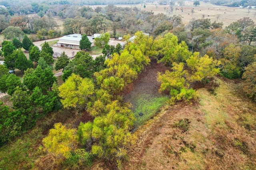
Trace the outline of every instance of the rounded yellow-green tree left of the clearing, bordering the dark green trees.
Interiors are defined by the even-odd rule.
[[[86,104],[90,96],[94,93],[94,84],[88,78],[81,78],[72,74],[59,87],[62,98],[61,103],[65,108],[78,107]]]

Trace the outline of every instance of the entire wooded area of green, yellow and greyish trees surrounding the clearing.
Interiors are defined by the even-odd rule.
[[[49,125],[43,125],[46,132],[39,137],[40,156],[33,167],[32,163],[27,164],[26,169],[82,169],[97,161],[105,162],[103,167],[122,169],[131,156],[130,148],[138,141],[134,133],[135,114],[122,95],[152,61],[167,68],[158,73],[157,80],[159,92],[169,98],[168,106],[197,106],[202,88],[216,95],[220,86],[216,76],[243,82],[240,90],[248,100],[256,102],[256,25],[249,17],[222,29],[222,22],[212,22],[205,16],[192,18],[184,25],[180,15],[154,15],[136,7],[79,8],[60,1],[32,2],[27,8],[20,8],[5,3],[9,7],[0,8],[0,31],[11,41],[2,42],[0,91],[10,95],[11,104],[0,102],[0,146],[8,146],[54,114],[68,113],[65,116],[75,117],[79,124],[59,123],[52,118]],[[26,12],[37,16],[25,15]],[[64,20],[63,31],[54,16]],[[86,35],[99,32],[104,34],[95,38],[95,45],[102,48],[102,55],[94,60],[87,52],[91,44]],[[110,37],[119,37],[124,32],[125,40],[131,35],[134,39],[126,41],[123,47],[107,44]],[[36,35],[31,39],[28,35],[32,33]],[[63,84],[57,84],[52,72],[52,47],[45,42],[40,50],[32,40],[73,33],[85,35],[80,41],[82,51],[72,60],[65,53],[58,57],[54,68],[63,71]],[[28,51],[28,57],[23,49]],[[24,74],[22,81],[16,74],[9,74],[8,70],[15,69]],[[91,118],[80,121],[84,114]],[[174,127],[183,128],[184,133],[189,123],[184,119]],[[255,130],[254,123],[241,128]],[[142,125],[136,124],[136,128]],[[245,145],[240,143],[237,145]],[[246,145],[248,150],[253,149],[251,144]],[[251,161],[256,154],[248,150],[243,153]],[[246,162],[248,167],[255,168],[250,161]],[[1,168],[14,166],[8,167],[6,161],[1,161]]]

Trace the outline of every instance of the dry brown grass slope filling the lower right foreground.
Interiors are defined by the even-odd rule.
[[[124,169],[255,169],[255,103],[235,95],[240,84],[218,82],[216,96],[199,90],[198,107],[166,107],[140,127]],[[186,132],[174,126],[181,119]]]

